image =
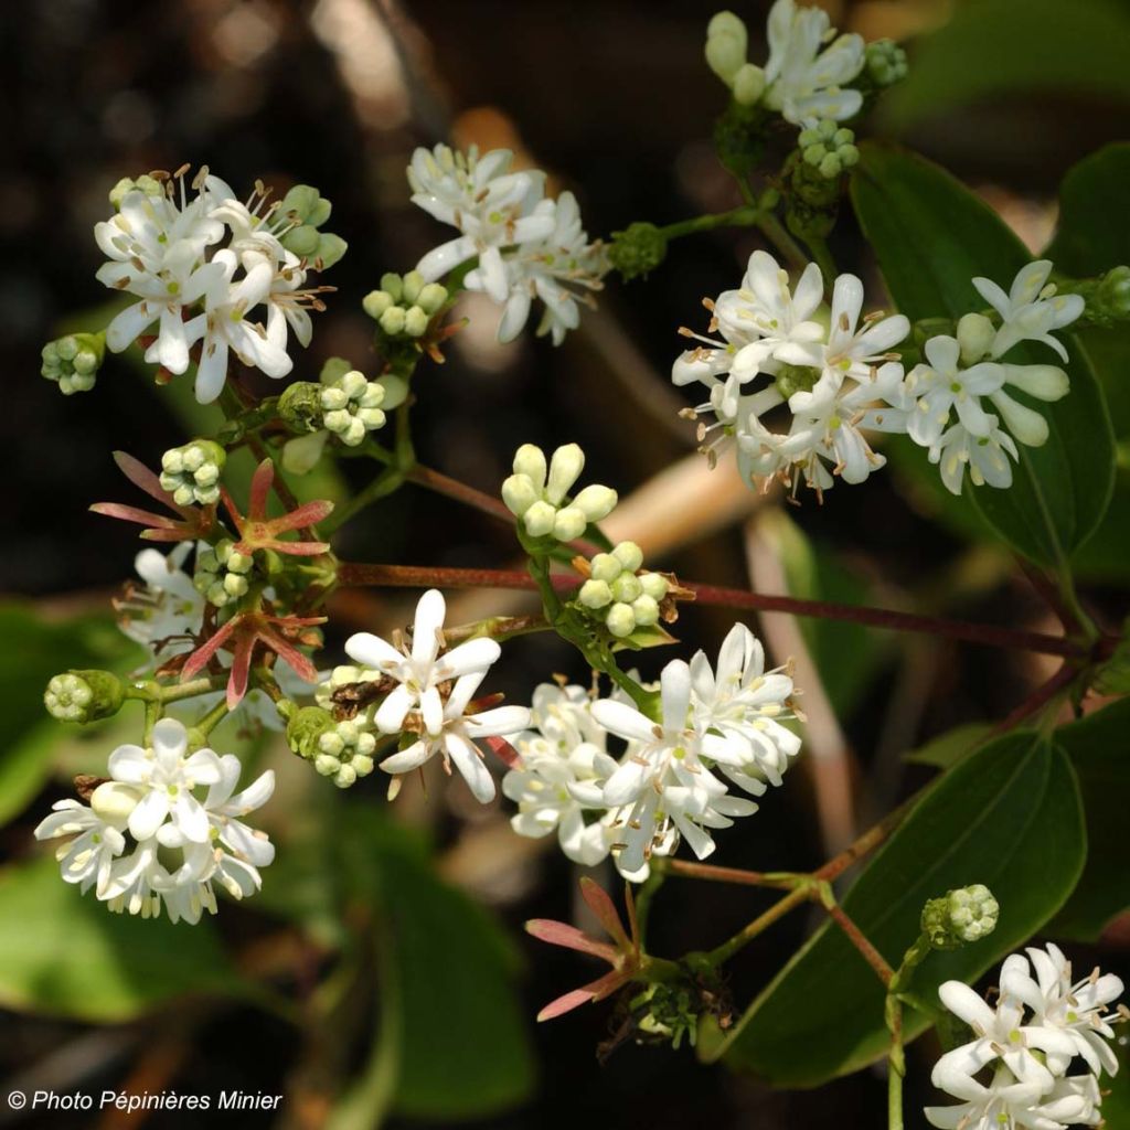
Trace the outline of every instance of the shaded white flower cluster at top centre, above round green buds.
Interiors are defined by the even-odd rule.
[[[545,197],[546,175],[511,172],[513,154],[472,146],[458,153],[445,145],[419,148],[408,166],[412,202],[460,235],[429,251],[417,264],[428,282],[477,259],[463,286],[503,306],[498,340],[512,341],[530,316],[534,298],[545,305],[538,333],[560,345],[576,329],[579,303],[593,304],[608,260],[590,243],[572,192]]]

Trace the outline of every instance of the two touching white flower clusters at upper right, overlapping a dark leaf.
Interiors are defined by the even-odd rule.
[[[886,463],[868,433],[897,432],[928,449],[954,494],[960,493],[966,469],[975,486],[1008,487],[1014,437],[1042,444],[1048,424],[1005,386],[1044,401],[1068,392],[1063,370],[1003,359],[1026,340],[1051,345],[1066,359],[1051,330],[1078,318],[1083,299],[1057,295],[1048,284],[1050,271],[1046,260],[1028,264],[1007,295],[988,279],[974,279],[997,322],[966,314],[957,337],[930,338],[925,362],[906,374],[893,350],[909,334],[909,321],[901,314],[861,321],[863,286],[854,275],[836,278],[825,321],[819,268],[810,263],[792,288],[776,260],[755,251],[741,287],[710,304],[711,331],[721,340],[699,338],[702,345],[676,360],[671,379],[705,385],[709,400],[692,415],[715,416],[710,427],[699,425],[701,440],[720,434],[704,450],[716,459],[723,444],[736,441],[738,466],[749,481],[780,479],[793,493],[801,480],[818,493],[836,477],[862,483]],[[758,376],[767,381],[758,385]],[[999,417],[984,409],[982,397]],[[788,431],[771,431],[764,417],[782,405],[791,416]]]

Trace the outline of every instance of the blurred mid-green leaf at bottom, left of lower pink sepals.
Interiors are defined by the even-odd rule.
[[[386,994],[377,1034],[384,1046],[371,1059],[376,1081],[366,1077],[359,1093],[383,1101],[394,1063],[393,1106],[401,1114],[483,1118],[521,1102],[533,1086],[533,1060],[506,937],[483,907],[436,876],[405,828],[359,807],[344,823],[351,843],[347,873],[376,909]]]

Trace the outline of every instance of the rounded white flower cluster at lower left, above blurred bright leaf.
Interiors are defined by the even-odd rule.
[[[242,819],[270,799],[275,774],[236,793],[240,767],[231,754],[190,754],[184,725],[162,719],[150,746],[110,755],[110,780],[88,806],[60,800],[35,836],[71,837],[56,853],[63,878],[84,894],[93,887],[112,911],[155,918],[164,909],[174,922],[199,922],[205,910],[216,913],[216,886],[233,898],[252,895],[259,868],[275,858],[267,836]]]

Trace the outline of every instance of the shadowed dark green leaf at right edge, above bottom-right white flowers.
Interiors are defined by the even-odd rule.
[[[1058,938],[1095,941],[1130,907],[1125,866],[1125,799],[1130,796],[1130,699],[1057,731],[1079,779],[1087,818],[1087,866],[1067,905],[1049,925]]]

